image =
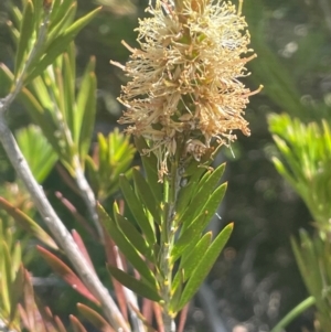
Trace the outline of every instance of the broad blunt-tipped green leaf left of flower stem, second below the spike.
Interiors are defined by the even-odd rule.
[[[128,204],[137,224],[146,236],[149,245],[152,246],[157,243],[153,225],[146,216],[141,203],[137,199],[131,185],[129,184],[128,179],[125,175],[119,176],[119,185],[125,196],[126,203]]]

